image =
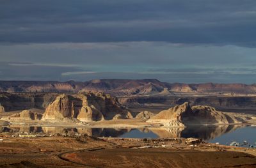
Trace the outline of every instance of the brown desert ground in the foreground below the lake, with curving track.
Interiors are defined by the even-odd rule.
[[[255,167],[256,149],[197,139],[1,136],[1,167]]]

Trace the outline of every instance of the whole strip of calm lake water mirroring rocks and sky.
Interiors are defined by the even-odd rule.
[[[222,126],[188,126],[186,128],[63,128],[45,126],[0,126],[2,133],[29,134],[86,134],[95,137],[129,137],[129,138],[179,138],[195,137],[220,144],[244,140],[254,144],[256,127],[244,125]]]

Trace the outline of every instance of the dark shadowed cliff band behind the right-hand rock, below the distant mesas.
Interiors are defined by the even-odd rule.
[[[118,101],[127,107],[148,104],[173,107],[189,102],[190,105],[209,105],[225,109],[256,109],[255,96],[136,96],[118,98]]]

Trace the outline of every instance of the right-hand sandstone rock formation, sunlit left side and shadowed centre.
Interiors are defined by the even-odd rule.
[[[216,111],[213,107],[196,105],[192,108],[189,103],[176,105],[168,110],[159,112],[147,120],[148,123],[162,123],[164,126],[185,125],[227,125],[244,123],[245,119],[225,112]]]

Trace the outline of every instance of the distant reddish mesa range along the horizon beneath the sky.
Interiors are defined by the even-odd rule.
[[[100,79],[87,82],[0,81],[2,92],[104,91],[115,96],[256,95],[256,84],[182,84],[156,79]]]

